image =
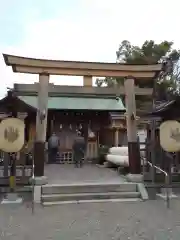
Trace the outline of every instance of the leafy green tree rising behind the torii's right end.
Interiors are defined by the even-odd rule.
[[[154,41],[145,41],[141,47],[133,46],[129,41],[124,40],[119,45],[116,52],[117,63],[127,64],[156,64],[169,60],[172,63],[168,74],[160,74],[157,79],[156,91],[159,100],[167,100],[174,95],[179,94],[180,89],[180,51],[173,49],[173,42],[163,41],[156,44]],[[114,86],[122,85],[123,78],[106,77],[97,79],[97,86]],[[136,81],[139,87],[153,87],[153,81]]]

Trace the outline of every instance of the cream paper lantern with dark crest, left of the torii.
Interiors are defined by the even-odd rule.
[[[7,118],[0,123],[0,149],[4,152],[19,152],[24,145],[24,122]]]

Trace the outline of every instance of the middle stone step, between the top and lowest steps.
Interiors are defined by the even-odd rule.
[[[140,198],[139,192],[104,192],[104,193],[68,193],[42,195],[42,202],[79,201],[95,199]]]

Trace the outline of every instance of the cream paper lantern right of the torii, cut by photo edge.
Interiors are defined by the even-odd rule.
[[[165,121],[160,125],[160,144],[167,152],[180,151],[180,123]]]

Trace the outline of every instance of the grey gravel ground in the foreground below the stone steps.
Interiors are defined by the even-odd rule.
[[[0,206],[0,240],[180,239],[180,202],[69,204],[42,208]]]

